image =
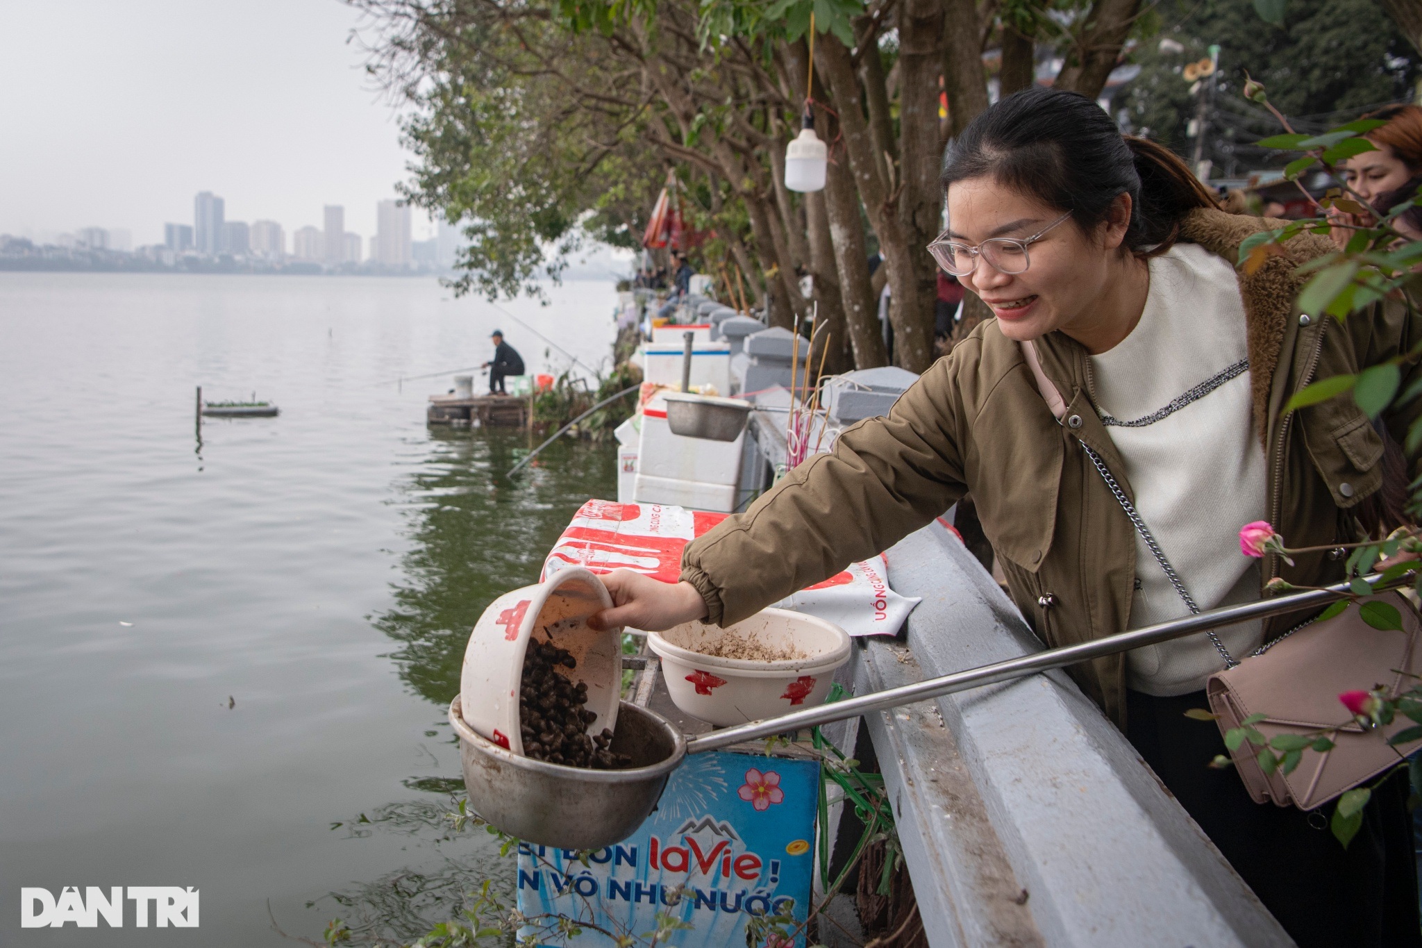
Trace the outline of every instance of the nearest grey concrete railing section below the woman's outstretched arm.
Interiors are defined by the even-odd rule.
[[[923,601],[907,645],[869,640],[856,650],[856,692],[1042,648],[940,524],[886,557],[893,588]],[[934,948],[1293,944],[1065,672],[865,725]]]

